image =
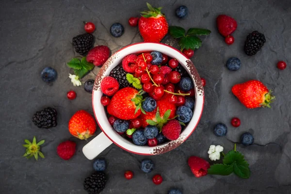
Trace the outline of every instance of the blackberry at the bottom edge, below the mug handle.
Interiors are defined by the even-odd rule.
[[[88,194],[99,194],[106,185],[106,176],[103,172],[95,172],[84,180],[84,190]]]

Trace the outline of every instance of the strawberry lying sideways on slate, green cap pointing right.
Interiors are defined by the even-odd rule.
[[[269,91],[262,82],[257,80],[236,84],[231,88],[231,91],[248,109],[258,107],[270,108],[270,103],[275,99],[275,97],[271,95],[272,91]]]

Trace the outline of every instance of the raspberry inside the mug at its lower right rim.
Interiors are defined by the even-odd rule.
[[[181,125],[178,120],[173,119],[167,122],[162,127],[162,134],[168,139],[168,140],[177,140],[179,135],[181,133]]]

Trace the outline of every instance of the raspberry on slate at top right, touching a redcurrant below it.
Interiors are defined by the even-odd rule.
[[[226,15],[219,15],[216,18],[216,22],[219,33],[221,33],[221,35],[223,35],[224,37],[234,32],[238,26],[234,18]]]

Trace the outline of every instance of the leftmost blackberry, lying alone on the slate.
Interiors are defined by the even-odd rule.
[[[44,110],[36,112],[32,116],[32,121],[38,128],[49,129],[52,127],[56,127],[58,124],[57,111],[53,108],[48,107]]]

